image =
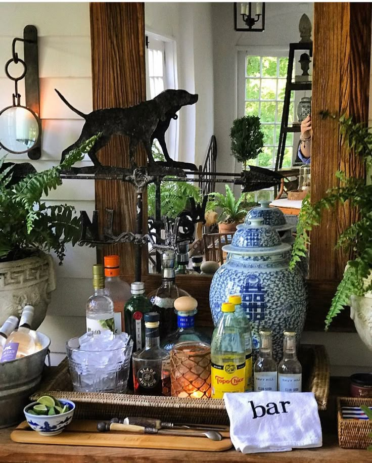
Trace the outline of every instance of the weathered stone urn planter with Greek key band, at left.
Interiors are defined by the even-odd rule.
[[[0,262],[0,326],[10,315],[20,316],[26,304],[35,307],[31,328],[36,330],[45,318],[56,289],[51,255],[42,252],[11,262]]]

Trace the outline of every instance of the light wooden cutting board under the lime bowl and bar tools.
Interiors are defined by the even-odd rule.
[[[27,422],[24,421],[12,432],[10,437],[14,442],[27,444],[88,445],[94,447],[134,447],[221,452],[232,447],[228,432],[222,432],[221,434],[223,439],[216,442],[206,437],[134,434],[117,431],[99,433],[97,431],[97,421],[73,420],[57,436],[41,436],[36,431],[33,431]]]

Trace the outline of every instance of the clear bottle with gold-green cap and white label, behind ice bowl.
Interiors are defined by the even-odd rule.
[[[114,332],[114,303],[105,294],[103,265],[93,266],[93,288],[95,293],[86,302],[86,331],[101,334],[105,330]]]

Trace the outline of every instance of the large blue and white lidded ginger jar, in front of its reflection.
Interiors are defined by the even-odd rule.
[[[263,218],[246,220],[237,226],[231,244],[223,246],[227,258],[213,276],[209,303],[216,325],[222,302],[231,294],[240,294],[251,321],[254,353],[259,348],[259,331],[270,329],[273,355],[280,361],[283,332],[295,331],[300,339],[307,292],[300,270],[289,269],[291,245],[282,243],[277,231],[262,222]]]

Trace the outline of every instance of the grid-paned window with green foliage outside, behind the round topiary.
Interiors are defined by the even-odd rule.
[[[260,167],[274,168],[275,166],[283,114],[287,67],[287,57],[246,55],[245,114],[259,116],[262,124],[264,147],[255,160],[256,165]],[[292,123],[293,120],[294,104],[293,94],[291,94],[288,122]],[[292,166],[292,156],[293,133],[288,133],[283,160],[284,168]],[[270,194],[269,191],[262,191],[262,193],[267,196]]]

